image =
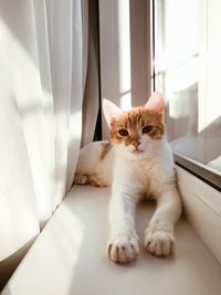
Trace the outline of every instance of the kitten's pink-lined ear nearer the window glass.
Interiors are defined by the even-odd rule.
[[[161,93],[155,92],[147,101],[145,108],[154,112],[160,119],[165,116],[165,103]]]

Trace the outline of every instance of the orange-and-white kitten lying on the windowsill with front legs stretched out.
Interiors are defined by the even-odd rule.
[[[151,196],[157,209],[146,229],[144,246],[152,255],[169,255],[181,199],[166,136],[162,95],[156,92],[145,106],[127,112],[104,99],[103,112],[110,141],[91,143],[81,150],[74,183],[112,186],[106,254],[116,263],[138,256],[135,209],[141,198]]]

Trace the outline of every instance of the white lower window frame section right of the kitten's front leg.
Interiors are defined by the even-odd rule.
[[[176,168],[186,218],[221,264],[221,192]]]

